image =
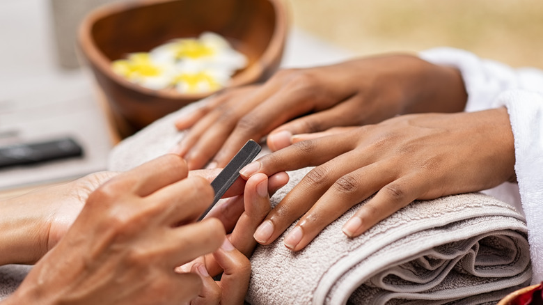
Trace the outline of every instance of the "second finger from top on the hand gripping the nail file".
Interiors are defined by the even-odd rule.
[[[212,203],[213,196],[213,188],[207,180],[187,178],[145,198],[147,204],[143,208],[164,215],[162,221],[170,226],[180,226],[195,221]]]

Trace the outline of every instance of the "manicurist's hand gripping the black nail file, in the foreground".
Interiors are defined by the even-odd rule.
[[[194,223],[212,202],[200,177],[166,155],[99,187],[68,233],[9,300],[18,304],[180,304],[202,288],[175,266],[217,250],[217,219]],[[8,303],[9,304],[9,303]]]

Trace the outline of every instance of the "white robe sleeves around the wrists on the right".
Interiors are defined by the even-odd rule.
[[[514,135],[518,186],[509,182],[486,191],[524,212],[533,283],[543,281],[543,71],[514,69],[460,49],[436,48],[420,58],[459,69],[468,102],[465,111],[507,107]]]

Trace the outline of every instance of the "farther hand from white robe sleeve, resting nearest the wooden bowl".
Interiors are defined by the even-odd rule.
[[[462,111],[465,103],[457,70],[414,56],[283,70],[262,86],[219,93],[179,118],[176,127],[190,130],[173,152],[187,159],[189,169],[210,160],[210,167],[224,166],[247,140],[268,134],[269,148],[278,150],[295,134],[378,123],[402,113]]]

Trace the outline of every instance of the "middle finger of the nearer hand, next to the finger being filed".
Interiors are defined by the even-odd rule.
[[[269,244],[276,240],[290,224],[308,212],[345,173],[351,173],[371,162],[372,159],[368,156],[361,156],[357,151],[351,151],[312,169],[272,212],[269,212],[265,221],[258,226],[254,234],[255,240],[260,244]],[[293,236],[301,239],[299,230],[294,233],[297,235]],[[289,241],[288,244],[292,242]]]

